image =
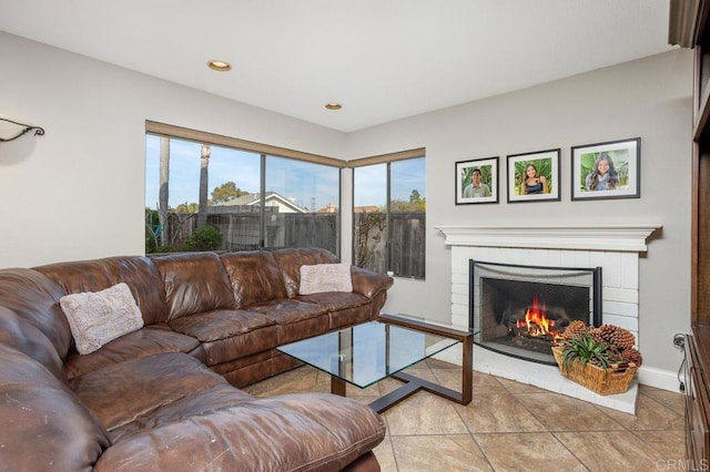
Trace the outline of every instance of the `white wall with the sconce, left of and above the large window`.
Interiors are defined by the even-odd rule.
[[[1,267],[144,253],[145,120],[344,153],[343,133],[2,32],[0,64],[0,116],[47,131],[0,144]]]

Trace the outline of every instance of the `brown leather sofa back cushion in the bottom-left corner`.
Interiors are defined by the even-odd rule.
[[[0,345],[2,470],[91,470],[110,445],[79,399],[30,357]]]

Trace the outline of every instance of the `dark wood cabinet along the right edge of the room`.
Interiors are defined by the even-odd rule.
[[[668,39],[694,49],[691,332],[686,337],[686,448],[690,470],[710,464],[710,29],[708,0],[671,0]]]

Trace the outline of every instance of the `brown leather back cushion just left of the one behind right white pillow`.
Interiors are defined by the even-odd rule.
[[[236,308],[287,298],[281,269],[271,253],[245,250],[223,254],[221,259],[232,284]]]

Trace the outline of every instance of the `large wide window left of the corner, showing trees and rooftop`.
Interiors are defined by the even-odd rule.
[[[153,122],[146,131],[146,254],[338,254],[342,161]]]

